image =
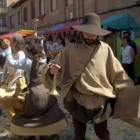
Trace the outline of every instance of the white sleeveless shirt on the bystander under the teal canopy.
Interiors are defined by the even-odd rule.
[[[127,45],[121,48],[122,64],[130,64],[133,62],[133,57],[131,55],[131,47]]]

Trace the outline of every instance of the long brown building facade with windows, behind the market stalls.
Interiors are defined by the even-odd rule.
[[[140,24],[140,0],[18,0],[8,6],[9,31],[33,29],[39,19],[38,31],[56,24],[82,18],[88,12],[101,16],[130,13]]]

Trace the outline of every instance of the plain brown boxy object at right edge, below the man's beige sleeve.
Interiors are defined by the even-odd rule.
[[[140,85],[127,87],[118,93],[113,118],[140,118]]]

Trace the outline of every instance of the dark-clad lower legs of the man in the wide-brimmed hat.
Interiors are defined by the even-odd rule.
[[[73,118],[74,140],[85,140],[86,124]],[[94,124],[94,130],[97,137],[101,140],[109,140],[109,131],[107,130],[107,121]]]

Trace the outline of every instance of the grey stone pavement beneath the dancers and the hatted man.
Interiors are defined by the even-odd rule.
[[[1,70],[0,70],[1,72]],[[60,140],[73,140],[73,125],[71,121],[71,116],[67,116],[70,125],[67,130],[60,134]],[[130,125],[121,120],[110,119],[108,121],[108,128],[112,140],[140,140],[140,129]],[[0,140],[19,140],[19,137],[10,134],[9,131],[9,121],[7,119],[6,111],[2,110],[2,115],[0,116]],[[98,140],[95,136],[92,125],[87,126],[86,133],[87,140]]]

